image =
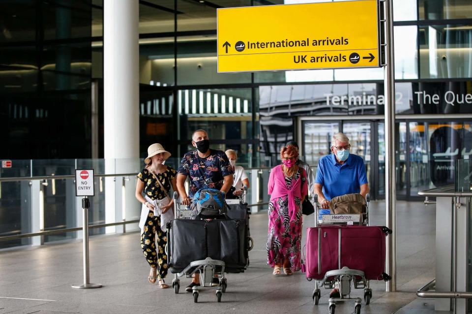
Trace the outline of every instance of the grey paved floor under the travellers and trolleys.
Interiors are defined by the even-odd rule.
[[[372,202],[371,223],[384,224],[383,202]],[[304,226],[313,225],[314,215]],[[415,298],[417,288],[434,278],[435,209],[422,203],[397,202],[397,287],[385,293],[383,282],[373,282],[371,304],[361,313],[389,314]],[[327,290],[313,306],[313,283],[303,274],[273,276],[266,265],[266,213],[251,217],[255,248],[243,274],[228,276],[228,290],[216,303],[213,291],[178,295],[147,281],[148,264],[142,256],[138,233],[90,238],[90,281],[99,289],[72,289],[82,283],[82,243],[48,244],[38,248],[0,251],[0,314],[59,313],[327,313]],[[183,279],[182,285],[188,280]],[[172,282],[169,278],[168,283]],[[362,290],[354,290],[361,295]],[[336,313],[353,313],[353,303],[339,305]]]

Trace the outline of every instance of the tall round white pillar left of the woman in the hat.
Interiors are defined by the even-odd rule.
[[[103,81],[105,172],[118,170],[113,159],[139,157],[139,3],[103,1]],[[121,170],[121,169],[120,169]],[[121,180],[105,179],[105,222],[121,220],[116,197]],[[134,194],[134,193],[133,193]],[[115,232],[108,227],[106,233]]]

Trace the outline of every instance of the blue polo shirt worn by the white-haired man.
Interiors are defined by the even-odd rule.
[[[368,183],[364,160],[349,154],[348,159],[340,164],[334,154],[324,156],[318,163],[315,183],[323,185],[323,194],[328,201],[336,196],[359,193],[360,186]]]

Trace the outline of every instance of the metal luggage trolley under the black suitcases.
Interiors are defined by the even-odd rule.
[[[180,203],[177,202],[177,199],[177,192],[174,192],[174,210],[176,219],[190,219],[190,210],[180,209]],[[169,239],[169,229],[167,236]],[[166,254],[169,257],[169,247],[167,245]],[[226,292],[227,287],[227,280],[225,278],[225,262],[213,260],[210,258],[191,262],[187,267],[185,267],[185,269],[175,274],[174,280],[172,281],[174,292],[178,293],[179,291],[179,277],[185,276],[185,278],[192,278],[194,274],[200,276],[200,287],[194,286],[192,288],[194,302],[198,302],[199,290],[203,289],[215,289],[217,302],[221,302],[221,296],[223,292]],[[216,287],[213,287],[212,285],[213,278],[219,279],[219,284]]]

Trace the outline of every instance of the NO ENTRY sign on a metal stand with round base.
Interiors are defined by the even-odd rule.
[[[73,285],[72,288],[90,289],[101,288],[100,284],[90,284],[89,272],[89,208],[90,200],[88,196],[94,196],[93,188],[93,169],[76,169],[75,170],[75,195],[83,196],[82,209],[83,211],[83,233],[84,233],[84,284]]]

